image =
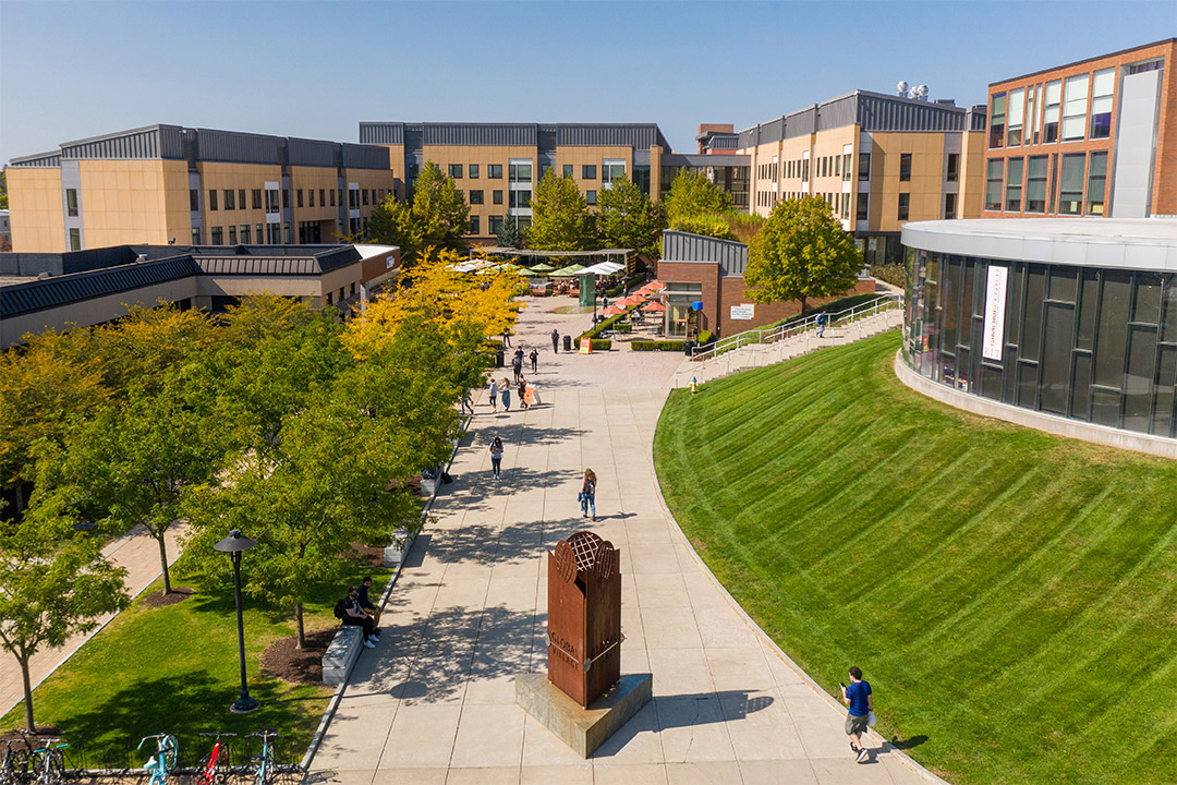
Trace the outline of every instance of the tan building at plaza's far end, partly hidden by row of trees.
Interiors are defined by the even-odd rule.
[[[676,155],[654,124],[361,122],[360,142],[388,148],[406,191],[426,161],[440,166],[466,194],[473,241],[493,240],[507,215],[530,226],[548,169],[572,178],[590,205],[621,175],[657,201],[683,167],[706,171],[733,201],[743,191],[747,204],[745,157]]]

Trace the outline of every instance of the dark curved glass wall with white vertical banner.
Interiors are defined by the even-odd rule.
[[[1177,274],[916,248],[906,274],[903,353],[920,375],[1012,406],[1177,438]]]

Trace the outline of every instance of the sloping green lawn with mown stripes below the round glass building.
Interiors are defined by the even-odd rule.
[[[666,501],[736,599],[953,783],[1177,783],[1177,461],[931,401],[898,333],[676,391]]]

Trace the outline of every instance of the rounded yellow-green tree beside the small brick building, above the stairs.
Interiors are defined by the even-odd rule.
[[[818,197],[777,202],[749,246],[744,280],[753,302],[800,300],[845,292],[863,267],[862,254],[830,206]]]

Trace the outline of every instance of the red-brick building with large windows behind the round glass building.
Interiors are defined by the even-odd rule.
[[[989,86],[982,217],[1177,215],[1177,39]]]

